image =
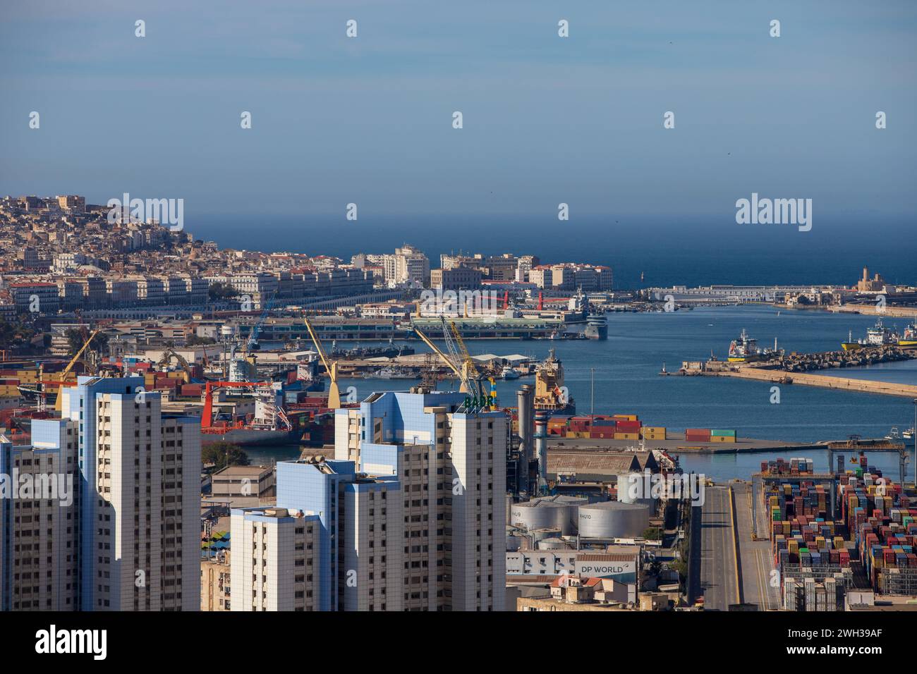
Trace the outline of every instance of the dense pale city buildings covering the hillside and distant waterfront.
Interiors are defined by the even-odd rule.
[[[0,316],[141,316],[144,312],[285,305],[333,308],[336,298],[372,302],[412,289],[476,290],[488,283],[584,292],[612,288],[608,267],[539,265],[535,256],[443,255],[404,244],[349,263],[324,255],[219,249],[155,220],[110,218],[78,195],[0,199]],[[132,313],[132,310],[136,310]],[[107,312],[107,313],[106,313]]]

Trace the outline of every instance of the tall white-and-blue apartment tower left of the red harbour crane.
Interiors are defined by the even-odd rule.
[[[196,611],[200,605],[200,422],[163,415],[142,377],[80,377],[61,390],[75,424],[75,606]]]

